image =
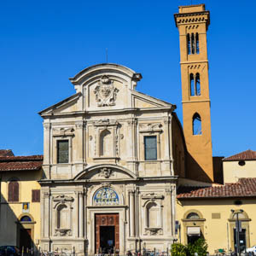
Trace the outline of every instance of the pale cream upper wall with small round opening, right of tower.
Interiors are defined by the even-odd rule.
[[[244,166],[239,166],[238,161],[224,161],[224,183],[236,183],[240,177],[255,177],[256,160],[245,160]]]

